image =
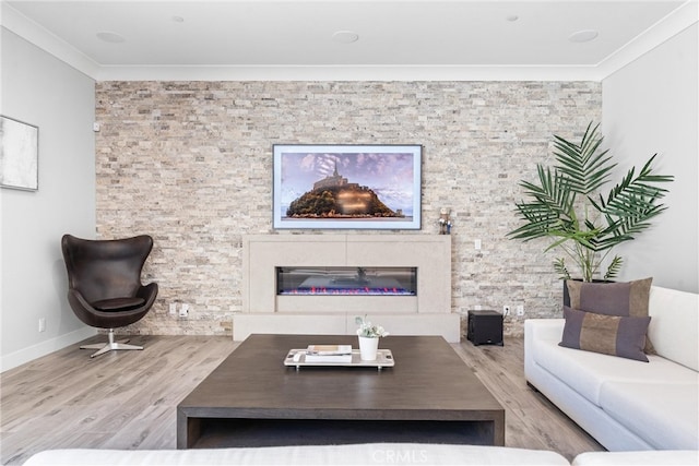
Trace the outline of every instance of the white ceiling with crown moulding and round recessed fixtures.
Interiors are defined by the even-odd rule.
[[[697,0],[5,0],[0,19],[97,80],[601,80],[697,11]],[[589,29],[595,39],[569,39]]]

